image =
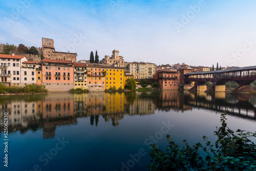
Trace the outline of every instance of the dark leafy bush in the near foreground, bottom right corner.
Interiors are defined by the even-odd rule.
[[[166,153],[155,144],[150,153],[150,170],[256,170],[256,147],[249,137],[256,137],[256,132],[237,130],[234,134],[227,127],[227,111],[221,115],[221,127],[216,127],[215,135],[218,137],[214,145],[203,136],[205,146],[200,142],[193,146],[183,140],[185,146],[179,148],[167,135],[169,145]],[[202,148],[207,156],[200,157],[199,149]]]

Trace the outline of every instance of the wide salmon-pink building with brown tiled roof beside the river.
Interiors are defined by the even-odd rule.
[[[69,91],[74,88],[74,62],[42,59],[42,84],[49,91]]]

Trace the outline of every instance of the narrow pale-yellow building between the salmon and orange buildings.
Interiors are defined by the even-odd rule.
[[[74,89],[87,89],[87,64],[75,63],[74,65]]]

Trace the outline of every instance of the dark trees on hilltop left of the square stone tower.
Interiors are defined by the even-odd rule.
[[[3,46],[3,52],[0,52],[0,54],[7,54],[7,55],[10,55],[12,53],[19,54],[19,55],[25,54],[25,53],[39,55],[39,52],[34,46],[28,49],[28,47],[26,47],[23,44],[19,44],[18,47],[16,47],[14,44],[11,45],[7,43]]]

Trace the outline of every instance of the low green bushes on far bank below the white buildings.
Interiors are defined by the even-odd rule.
[[[22,94],[22,93],[48,93],[48,90],[44,85],[39,86],[37,84],[27,84],[24,87],[11,86],[7,87],[4,84],[0,83],[0,94]]]

